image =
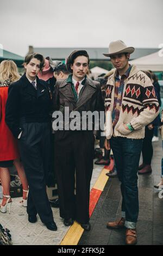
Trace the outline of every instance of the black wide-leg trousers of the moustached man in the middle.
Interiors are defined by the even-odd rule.
[[[89,222],[94,142],[92,131],[57,131],[55,134],[55,170],[62,218]]]

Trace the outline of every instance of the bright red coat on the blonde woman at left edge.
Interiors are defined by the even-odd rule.
[[[20,158],[17,141],[5,123],[5,105],[8,97],[8,83],[0,83],[0,161]]]

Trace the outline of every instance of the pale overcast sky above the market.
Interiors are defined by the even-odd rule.
[[[35,47],[163,44],[162,0],[0,0],[0,44],[24,56]]]

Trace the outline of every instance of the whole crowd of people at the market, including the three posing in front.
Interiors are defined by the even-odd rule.
[[[1,212],[10,211],[12,204],[9,168],[14,164],[23,187],[21,203],[27,207],[28,221],[35,223],[38,214],[49,230],[57,230],[46,192],[49,177],[55,172],[60,217],[65,226],[76,220],[89,231],[94,144],[99,139],[102,157],[95,163],[108,165],[112,150],[115,167],[108,175],[118,176],[121,181],[122,218],[108,222],[107,228],[126,227],[126,244],[136,244],[137,172],[152,172],[154,127],[163,122],[163,112],[160,120],[160,88],[155,75],[129,64],[134,50],[121,40],[110,42],[104,56],[110,57],[114,69],[96,80],[89,78],[90,58],[85,50],[73,51],[66,64],[40,53],[28,54],[22,77],[12,60],[0,64]],[[63,129],[54,131],[53,113],[65,114],[67,108]],[[105,112],[104,130],[96,129],[94,119],[92,130],[88,124],[82,129],[82,118],[78,120],[79,129],[67,129],[76,111]],[[141,152],[143,163],[139,166]],[[161,181],[155,186],[160,185],[163,159]]]

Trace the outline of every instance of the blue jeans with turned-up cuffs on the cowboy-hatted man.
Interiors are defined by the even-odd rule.
[[[121,181],[122,217],[126,218],[125,226],[135,228],[139,214],[137,188],[137,170],[143,139],[112,137],[110,146],[114,154],[117,175]]]

